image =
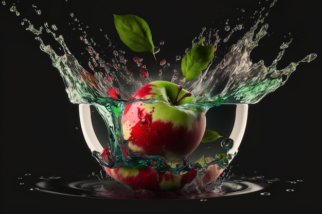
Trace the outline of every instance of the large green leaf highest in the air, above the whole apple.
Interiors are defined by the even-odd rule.
[[[153,54],[154,44],[148,23],[136,15],[114,15],[114,24],[121,41],[136,52]]]

